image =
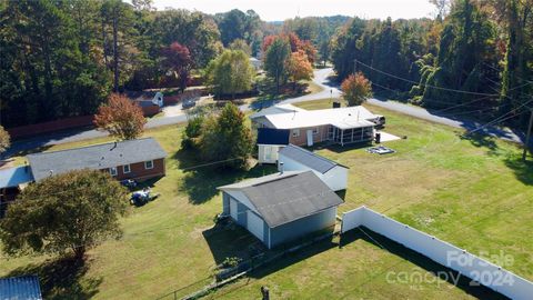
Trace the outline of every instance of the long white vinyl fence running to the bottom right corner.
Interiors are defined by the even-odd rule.
[[[364,226],[511,299],[533,299],[533,282],[449,242],[361,207],[342,216],[341,233]]]

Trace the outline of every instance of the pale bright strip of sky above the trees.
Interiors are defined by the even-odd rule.
[[[153,0],[158,10],[184,8],[208,13],[231,9],[253,9],[261,19],[282,21],[310,16],[344,14],[365,19],[410,19],[433,17],[435,7],[429,0]]]

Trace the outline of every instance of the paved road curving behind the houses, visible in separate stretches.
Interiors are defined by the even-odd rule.
[[[305,94],[302,97],[296,97],[296,98],[291,98],[291,99],[285,99],[282,101],[279,101],[279,103],[295,103],[295,102],[303,102],[303,101],[312,101],[312,100],[320,100],[320,99],[326,99],[326,98],[339,98],[341,96],[341,91],[339,90],[338,86],[332,84],[329,81],[329,76],[332,73],[331,68],[326,69],[321,69],[321,70],[315,70],[314,71],[314,79],[313,82],[316,83],[318,86],[322,87],[323,90],[318,92],[318,93],[312,93],[312,94]],[[439,112],[435,111],[429,111],[423,108],[419,107],[413,107],[413,106],[408,106],[403,104],[400,102],[395,101],[383,101],[383,100],[378,100],[378,99],[369,99],[369,103],[375,104],[379,107],[383,107],[390,110],[399,111],[401,113],[405,113],[409,116],[413,116],[416,118],[425,119],[429,121],[438,122],[438,123],[443,123],[446,126],[452,126],[456,128],[464,128],[466,130],[473,130],[475,128],[479,128],[480,123],[469,121],[469,120],[462,120],[459,118],[453,118],[450,116],[444,116],[440,114]],[[253,109],[249,107],[248,104],[241,106],[240,109],[242,111],[248,111],[250,109]],[[161,117],[161,118],[154,118],[150,119],[145,128],[157,128],[157,127],[162,127],[162,126],[169,126],[169,124],[175,124],[175,123],[181,123],[187,121],[187,116],[175,116],[175,117]],[[495,127],[489,127],[484,128],[481,130],[481,132],[484,132],[486,134],[491,134],[504,140],[510,140],[510,141],[515,141],[515,142],[522,142],[524,139],[524,134],[521,133],[514,133],[510,130],[504,130]],[[81,141],[81,140],[87,140],[87,139],[93,139],[93,138],[100,138],[100,137],[105,137],[105,132],[97,131],[94,129],[77,129],[77,130],[71,130],[71,131],[63,131],[63,132],[53,132],[49,134],[41,134],[39,137],[30,138],[27,140],[21,140],[21,141],[16,141],[11,146],[11,148],[7,151],[7,156],[11,156],[13,153],[36,149],[36,148],[41,148],[41,147],[49,147],[52,144],[61,144],[61,143],[67,143],[67,142],[73,142],[73,141]]]

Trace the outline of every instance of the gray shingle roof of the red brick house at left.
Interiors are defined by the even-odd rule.
[[[167,152],[152,138],[88,146],[82,148],[29,154],[36,181],[79,169],[107,169],[161,159]]]

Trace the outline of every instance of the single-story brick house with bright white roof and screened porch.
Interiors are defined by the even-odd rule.
[[[289,142],[292,144],[313,146],[315,142],[330,141],[344,146],[371,141],[375,127],[371,120],[375,118],[375,114],[359,106],[268,113],[252,118],[252,122],[258,128],[291,130]]]

